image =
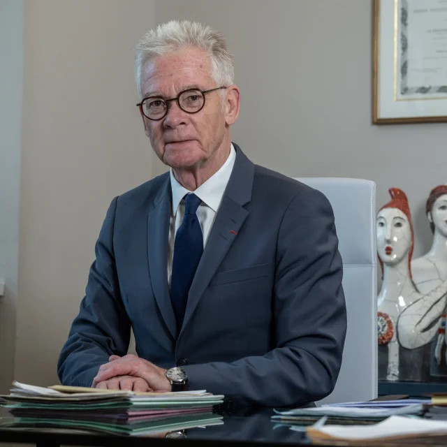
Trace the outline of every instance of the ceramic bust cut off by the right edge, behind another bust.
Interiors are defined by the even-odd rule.
[[[425,207],[433,233],[430,251],[412,261],[413,281],[421,293],[428,293],[447,281],[447,184],[430,191]],[[432,376],[447,377],[446,316],[441,319],[439,333],[432,346]]]

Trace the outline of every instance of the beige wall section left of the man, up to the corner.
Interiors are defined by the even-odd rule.
[[[133,47],[148,0],[28,0],[15,377],[48,385],[110,201],[151,177]]]

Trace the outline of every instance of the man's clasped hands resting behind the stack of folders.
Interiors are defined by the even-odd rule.
[[[132,354],[110,356],[109,362],[99,367],[91,386],[108,390],[166,393],[171,390],[171,385],[165,373],[166,369]]]

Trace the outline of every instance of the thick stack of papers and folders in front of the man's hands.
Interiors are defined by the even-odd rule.
[[[8,425],[15,427],[71,427],[141,436],[223,423],[221,416],[212,413],[212,406],[221,404],[223,395],[205,390],[134,393],[63,386],[41,388],[19,382],[13,386],[9,395],[0,397],[15,416]]]

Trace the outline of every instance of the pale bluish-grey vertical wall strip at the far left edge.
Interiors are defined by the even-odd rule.
[[[0,393],[10,388],[15,356],[19,257],[23,0],[0,0]]]

